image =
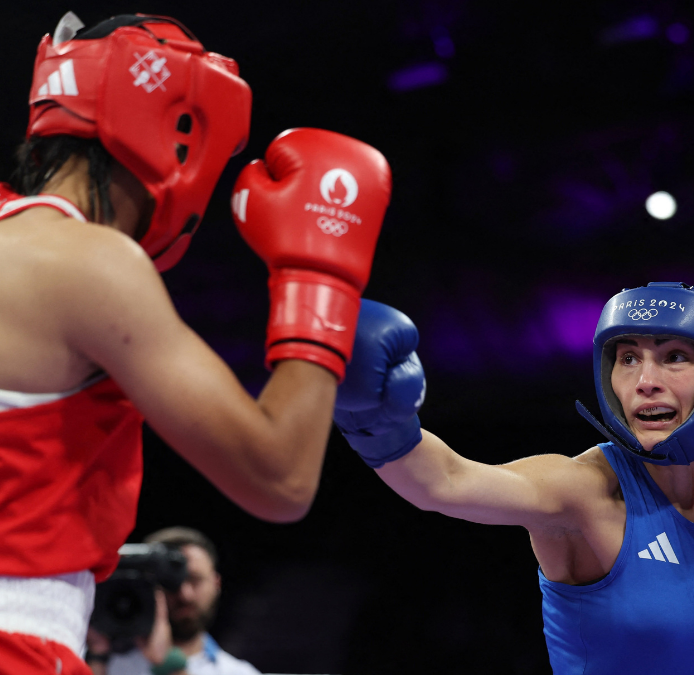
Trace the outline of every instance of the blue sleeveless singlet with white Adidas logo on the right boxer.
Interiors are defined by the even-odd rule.
[[[694,523],[675,509],[643,462],[600,449],[624,494],[624,541],[594,584],[549,581],[539,570],[555,675],[694,673]]]

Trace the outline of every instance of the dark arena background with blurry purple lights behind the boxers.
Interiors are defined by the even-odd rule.
[[[694,281],[691,4],[565,0],[238,0],[18,4],[3,16],[2,177],[26,123],[35,46],[72,9],[174,15],[236,58],[254,92],[232,160],[167,283],[183,317],[257,393],[263,264],[228,199],[293,126],[379,148],[393,202],[366,296],[421,331],[426,427],[471,458],[576,454],[600,439],[591,337],[625,286]],[[656,221],[646,197],[679,211]],[[198,527],[226,588],[214,633],[264,671],[548,673],[536,564],[518,528],[421,513],[335,435],[301,523],[261,523],[151,433],[133,540]]]

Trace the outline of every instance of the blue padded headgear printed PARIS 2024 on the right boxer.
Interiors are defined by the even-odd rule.
[[[629,429],[622,405],[612,390],[615,338],[624,335],[665,335],[694,341],[694,287],[654,282],[624,289],[602,310],[593,339],[593,374],[605,426],[576,401],[578,412],[622,450],[652,464],[694,462],[694,416],[690,416],[651,452],[643,449]]]

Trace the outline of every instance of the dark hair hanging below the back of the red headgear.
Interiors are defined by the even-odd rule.
[[[110,223],[113,205],[109,196],[113,158],[97,138],[65,134],[32,136],[17,148],[17,168],[10,182],[21,195],[36,195],[72,156],[89,162],[89,207],[92,219]]]

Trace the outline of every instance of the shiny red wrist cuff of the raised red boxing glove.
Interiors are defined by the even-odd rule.
[[[273,270],[265,364],[282,359],[317,363],[342,381],[359,318],[358,289],[312,270]]]

